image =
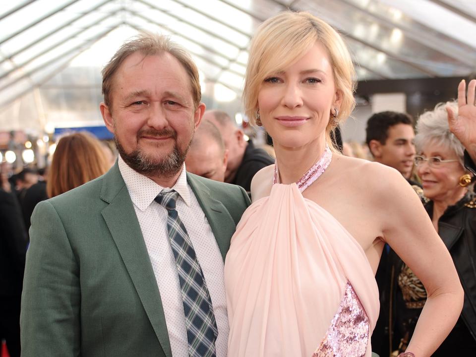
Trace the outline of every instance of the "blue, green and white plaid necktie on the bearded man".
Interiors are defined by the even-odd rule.
[[[155,201],[164,206],[169,214],[167,230],[179,272],[187,326],[188,356],[215,357],[215,340],[218,328],[213,313],[212,300],[192,242],[175,209],[178,197],[177,191],[162,190]]]

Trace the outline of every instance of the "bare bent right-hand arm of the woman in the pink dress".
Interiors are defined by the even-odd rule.
[[[382,181],[388,183],[377,190],[383,238],[413,270],[427,293],[407,351],[416,357],[431,356],[461,313],[463,289],[448,249],[415,191],[396,171],[380,176],[379,186]]]

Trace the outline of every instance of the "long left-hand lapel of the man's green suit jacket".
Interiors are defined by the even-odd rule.
[[[101,199],[109,203],[109,206],[102,211],[102,215],[132,283],[165,355],[172,357],[159,288],[134,207],[117,162],[103,179]]]

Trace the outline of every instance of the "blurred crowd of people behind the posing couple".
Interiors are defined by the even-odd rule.
[[[406,113],[375,113],[367,121],[365,143],[342,142],[339,134],[335,140],[343,155],[390,166],[408,180],[437,230],[440,225],[440,236],[445,243],[448,241],[461,279],[474,285],[474,274],[467,272],[476,253],[474,171],[465,162],[463,144],[450,131],[447,107],[454,113],[458,110],[455,102],[442,103],[421,115],[416,123]],[[103,175],[116,159],[117,153],[108,143],[87,132],[74,132],[59,139],[47,169],[26,167],[11,175],[8,164],[1,163],[1,338],[6,340],[10,356],[19,356],[20,351],[20,296],[30,217],[36,204]],[[238,184],[248,194],[254,174],[273,163],[272,146],[255,146],[252,140],[246,141],[243,129],[227,113],[218,110],[206,112],[185,159],[188,172]],[[381,311],[372,347],[380,356],[396,356],[412,337],[425,302],[425,289],[388,246],[383,251],[376,280]],[[463,318],[466,308],[471,316],[467,319]],[[444,353],[461,344],[476,350],[475,312],[466,306],[465,309],[440,347]]]

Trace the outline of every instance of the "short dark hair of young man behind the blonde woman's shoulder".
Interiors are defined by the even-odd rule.
[[[373,114],[367,120],[365,142],[368,145],[371,140],[377,140],[382,145],[385,145],[385,142],[388,139],[388,129],[397,124],[413,126],[413,118],[406,113],[390,111]]]

